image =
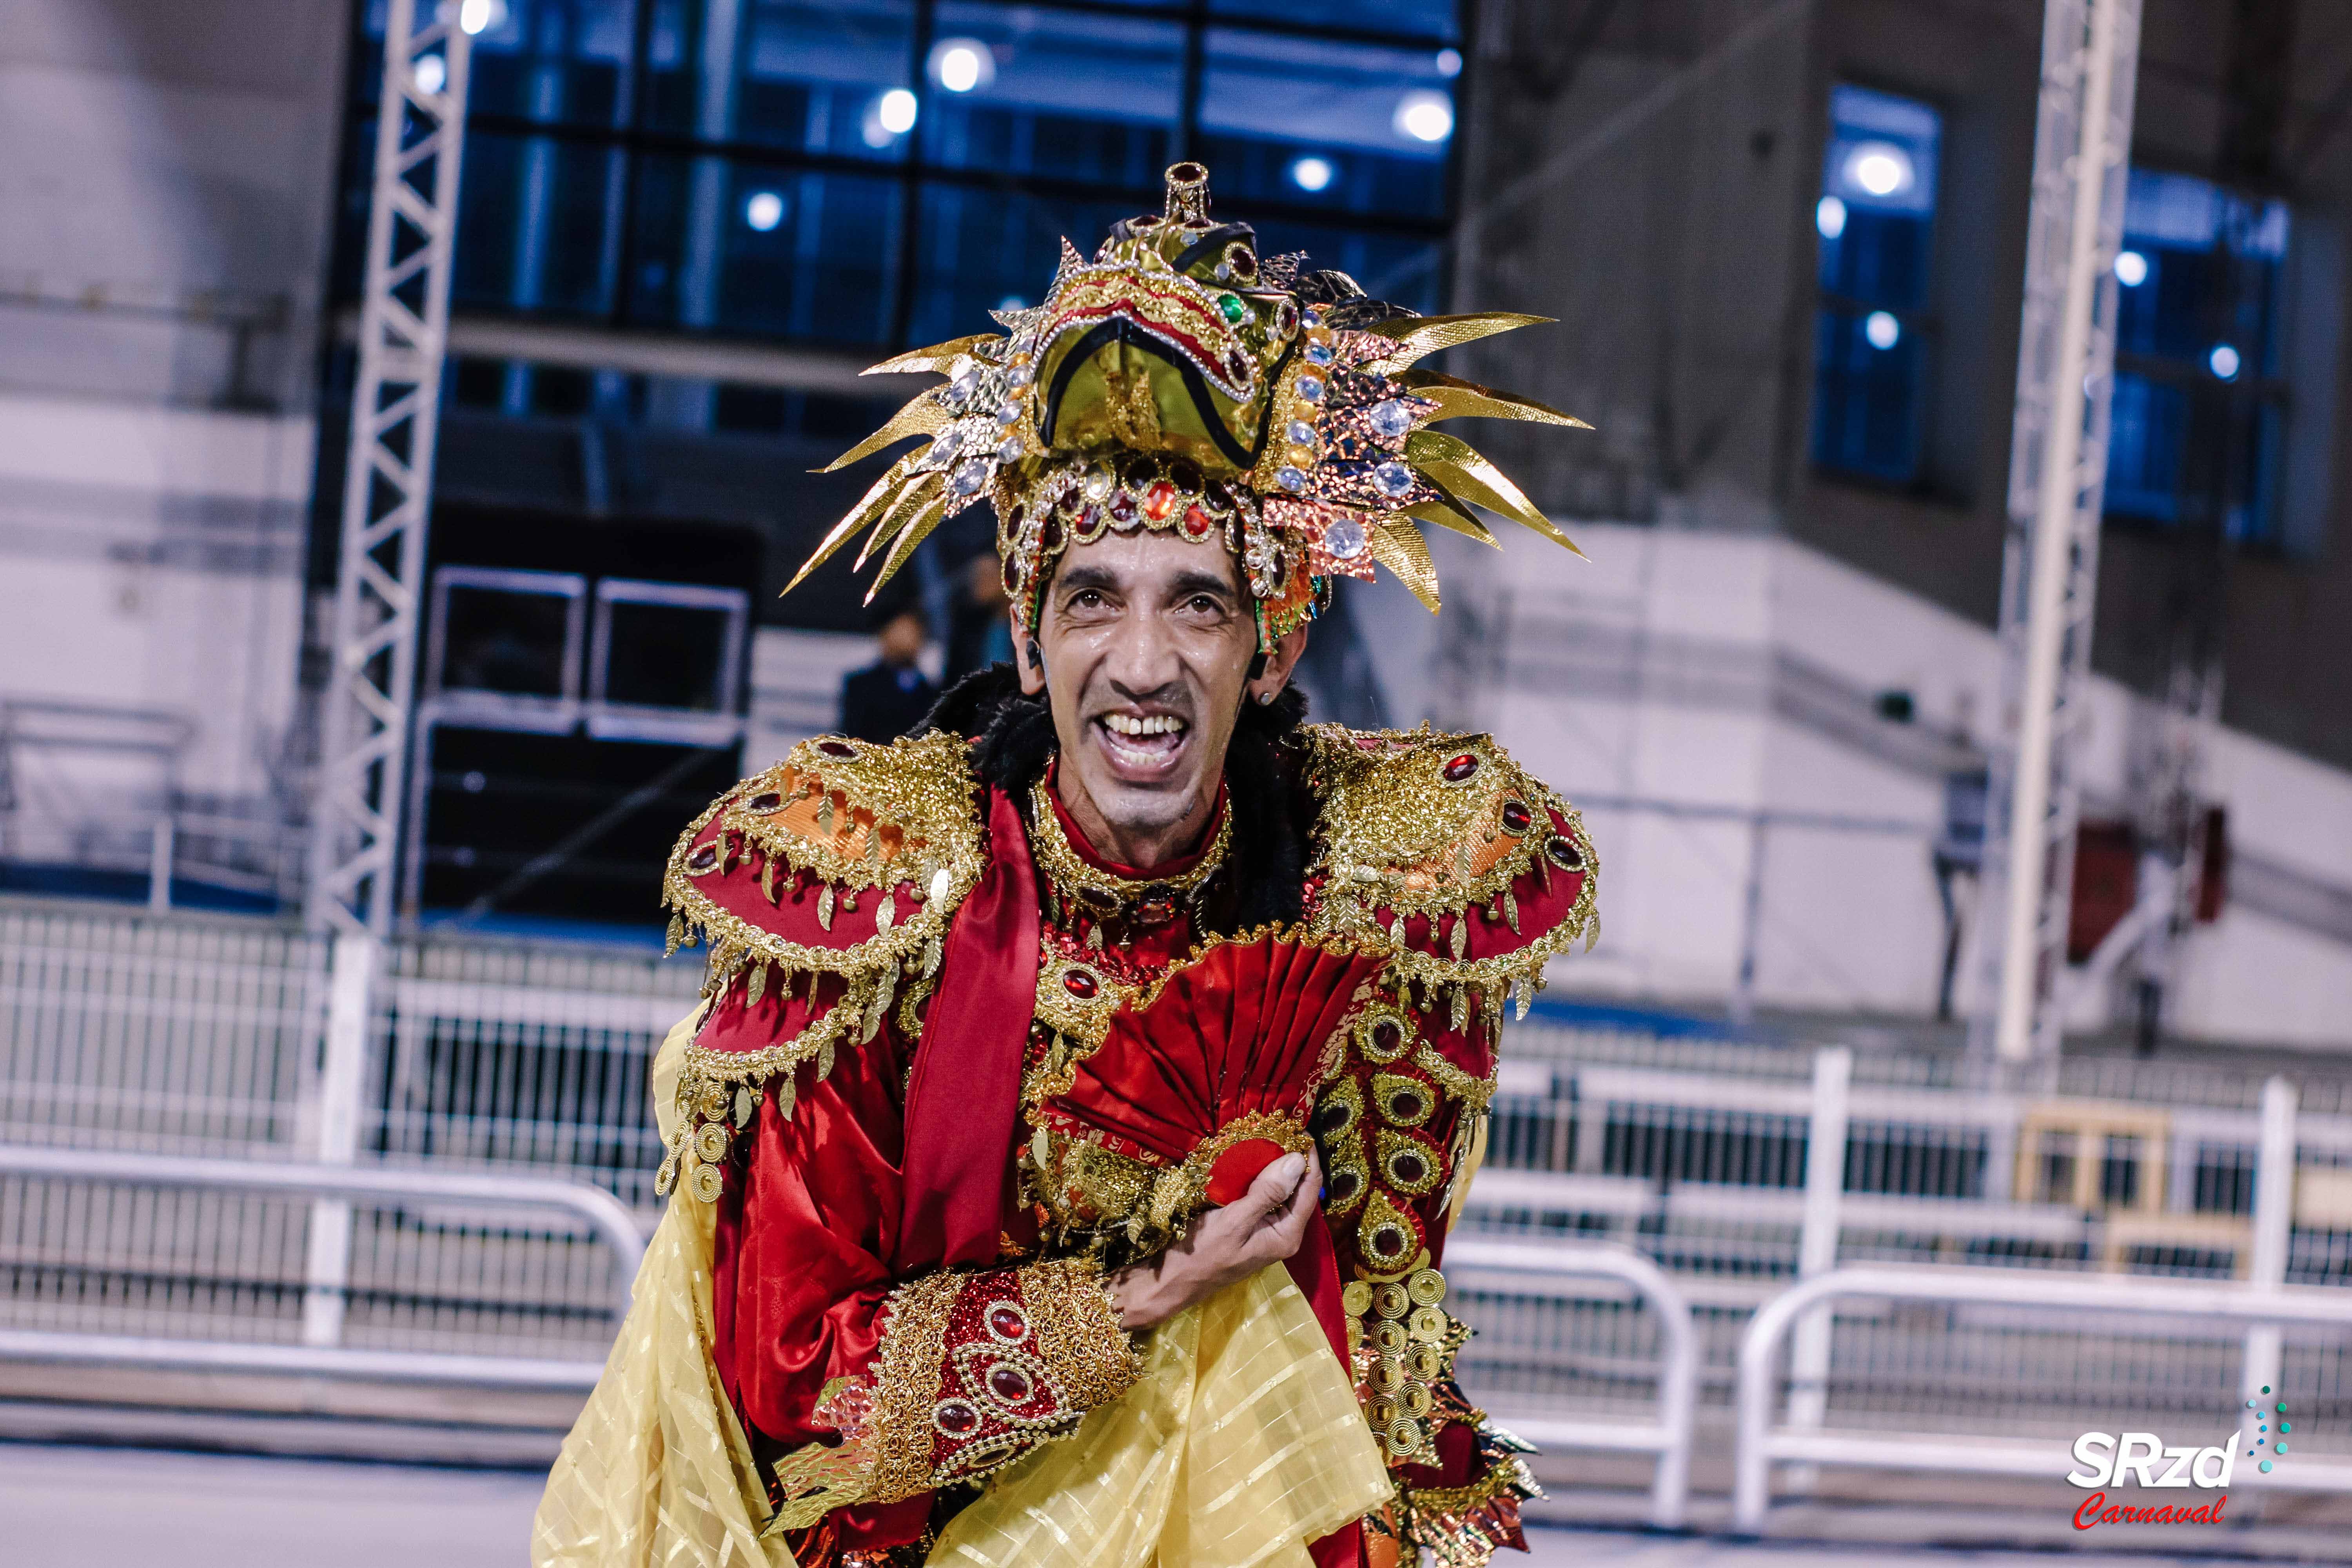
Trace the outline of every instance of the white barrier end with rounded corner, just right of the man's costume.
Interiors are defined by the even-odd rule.
[[[1552,1291],[1573,1295],[1573,1281],[1616,1279],[1642,1298],[1658,1321],[1658,1420],[1597,1420],[1496,1410],[1496,1420],[1538,1448],[1606,1448],[1658,1455],[1649,1486],[1649,1521],[1682,1528],[1691,1493],[1691,1422],[1698,1403],[1698,1331],[1691,1305],[1665,1272],[1639,1253],[1604,1241],[1494,1241],[1456,1237],[1446,1244],[1446,1279],[1456,1291]],[[1566,1288],[1562,1288],[1566,1286]]]

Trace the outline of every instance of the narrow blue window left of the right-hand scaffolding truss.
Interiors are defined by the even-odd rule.
[[[1813,226],[1813,463],[1889,484],[1922,470],[1943,118],[1915,99],[1837,87]]]

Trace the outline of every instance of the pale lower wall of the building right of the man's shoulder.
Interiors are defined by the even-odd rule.
[[[1526,536],[1501,557],[1444,541],[1449,621],[1388,583],[1367,595],[1399,722],[1491,729],[1585,809],[1602,938],[1559,959],[1555,985],[1719,1006],[1752,966],[1764,1009],[1931,1013],[1945,940],[1931,842],[1945,773],[1983,762],[1992,632],[1783,538],[1576,536],[1590,564]],[[1451,618],[1468,630],[1449,635]],[[1912,719],[1879,715],[1889,691]],[[2133,708],[2093,682],[2091,811],[2124,797]],[[2209,755],[2232,900],[2187,938],[2169,1027],[2352,1048],[2352,776],[2227,729]],[[1966,917],[1973,877],[1955,896]],[[2086,987],[2072,1027],[2107,1025],[2110,1001]]]

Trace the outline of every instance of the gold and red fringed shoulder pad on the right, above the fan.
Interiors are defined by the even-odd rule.
[[[1395,969],[1501,1016],[1545,961],[1599,936],[1599,863],[1581,813],[1491,736],[1308,731],[1322,802],[1312,924],[1385,938]]]

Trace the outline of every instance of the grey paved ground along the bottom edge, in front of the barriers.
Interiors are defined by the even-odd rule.
[[[0,1443],[7,1568],[522,1568],[541,1479],[416,1465],[266,1460],[146,1448]],[[2025,1568],[2046,1552],[1726,1542],[1618,1530],[1529,1530],[1524,1568]],[[2223,1542],[2216,1542],[2225,1552]],[[2237,1547],[2244,1552],[2244,1547]],[[2067,1554],[2067,1568],[2157,1568],[2241,1556]]]

